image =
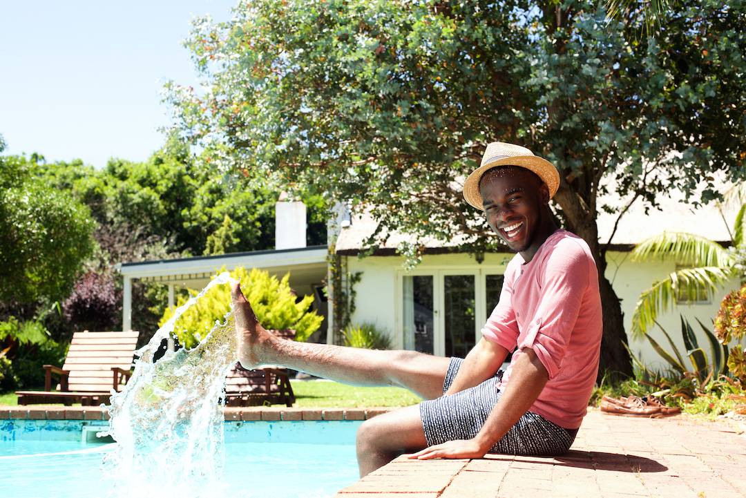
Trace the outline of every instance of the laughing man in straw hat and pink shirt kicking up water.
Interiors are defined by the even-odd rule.
[[[425,399],[357,433],[360,476],[410,458],[554,455],[574,440],[598,371],[601,297],[591,252],[549,209],[557,168],[527,148],[489,144],[464,183],[468,204],[516,251],[500,302],[466,359],[285,341],[266,332],[238,286],[239,360],[284,365],[353,385],[398,385]],[[506,372],[499,370],[515,350]]]

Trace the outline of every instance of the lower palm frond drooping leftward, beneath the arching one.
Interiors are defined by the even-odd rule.
[[[653,283],[653,286],[640,294],[632,315],[632,335],[640,338],[648,333],[660,313],[667,312],[677,297],[686,294],[689,300],[696,300],[705,293],[712,299],[719,286],[723,286],[733,276],[730,268],[701,266],[681,268],[668,277]]]

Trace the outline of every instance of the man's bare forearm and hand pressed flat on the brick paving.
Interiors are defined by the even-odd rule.
[[[448,441],[414,453],[410,458],[482,458],[507,434],[541,394],[549,379],[547,369],[530,348],[521,350],[515,359],[505,392],[487,417],[476,437]]]

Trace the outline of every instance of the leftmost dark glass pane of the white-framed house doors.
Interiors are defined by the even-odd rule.
[[[433,354],[433,277],[404,277],[404,349]]]

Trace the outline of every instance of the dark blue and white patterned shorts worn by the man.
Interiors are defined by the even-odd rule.
[[[443,392],[456,378],[463,359],[451,358],[445,376]],[[420,403],[420,416],[427,446],[445,441],[471,439],[477,435],[492,408],[500,401],[498,382],[503,372],[480,385],[456,394],[441,396],[436,400]],[[561,455],[570,449],[577,430],[564,429],[541,415],[526,412],[518,422],[495,443],[490,453],[525,456]]]

